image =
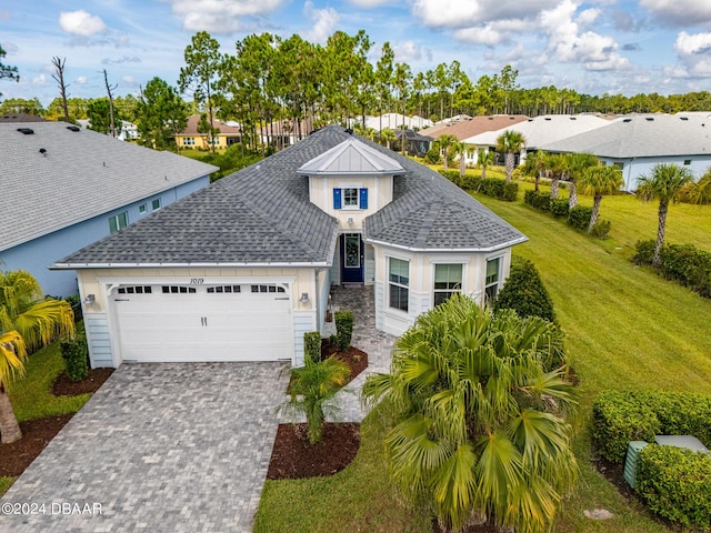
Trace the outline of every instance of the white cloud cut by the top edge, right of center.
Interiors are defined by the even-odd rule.
[[[430,28],[471,28],[499,20],[534,19],[560,0],[415,0],[412,13]]]

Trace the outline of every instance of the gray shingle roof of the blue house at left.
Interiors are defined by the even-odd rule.
[[[94,131],[72,131],[69,125],[0,123],[0,250],[217,170]],[[33,134],[22,134],[19,128],[29,128]]]

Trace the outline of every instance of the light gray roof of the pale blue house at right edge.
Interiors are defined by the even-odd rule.
[[[709,154],[711,119],[708,113],[622,117],[597,130],[541,148],[619,159]]]

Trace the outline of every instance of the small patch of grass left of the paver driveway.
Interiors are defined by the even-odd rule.
[[[56,414],[76,413],[91,398],[90,394],[58,398],[51,393],[52,383],[64,370],[59,342],[33,353],[27,361],[26,376],[10,383],[8,393],[18,421],[42,419]],[[14,477],[0,476],[0,495]]]

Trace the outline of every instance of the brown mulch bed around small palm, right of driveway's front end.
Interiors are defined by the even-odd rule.
[[[269,462],[268,480],[333,475],[348,466],[360,446],[360,424],[327,423],[323,441],[309,444],[307,424],[280,424]]]

